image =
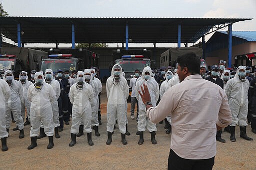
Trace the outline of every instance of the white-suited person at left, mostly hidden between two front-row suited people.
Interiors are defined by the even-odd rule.
[[[19,82],[22,84],[22,89],[23,89],[23,96],[21,99],[21,117],[24,121],[25,120],[25,109],[26,109],[26,115],[28,118],[28,122],[30,124],[30,104],[31,103],[27,100],[27,89],[33,83],[27,80],[28,79],[27,72],[25,72],[25,71],[21,71],[19,73],[18,78],[19,78]]]

